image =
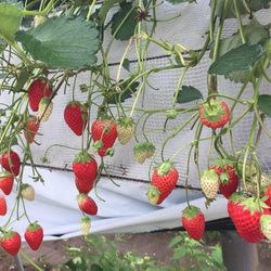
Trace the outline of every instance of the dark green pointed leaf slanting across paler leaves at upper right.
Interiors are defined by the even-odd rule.
[[[232,49],[214,62],[208,73],[212,75],[230,75],[234,70],[249,69],[263,55],[259,44],[242,44]]]

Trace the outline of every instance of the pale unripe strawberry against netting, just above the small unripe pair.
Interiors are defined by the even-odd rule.
[[[134,136],[134,129],[136,124],[129,117],[124,117],[117,122],[117,134],[121,145],[126,145],[130,141]]]

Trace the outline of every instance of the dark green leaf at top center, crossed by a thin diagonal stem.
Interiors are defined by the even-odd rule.
[[[131,11],[131,9],[133,9]],[[124,18],[127,15],[127,13],[130,13],[130,15],[127,17],[125,22]],[[117,40],[129,40],[134,35],[134,28],[137,25],[137,15],[138,13],[134,11],[134,7],[132,7],[132,3],[122,2],[120,3],[120,9],[117,13],[115,13],[112,17],[112,26],[111,31],[112,35],[115,34],[115,31],[118,29],[115,38]]]

